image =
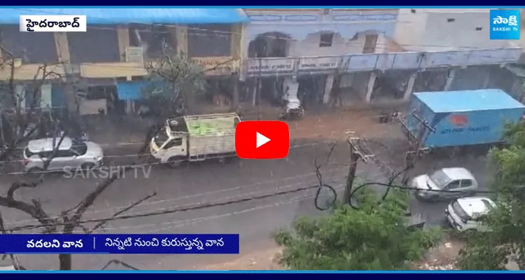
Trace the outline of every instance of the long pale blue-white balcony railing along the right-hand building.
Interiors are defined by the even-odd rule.
[[[443,67],[498,65],[519,60],[521,48],[453,50],[447,52],[387,52],[318,57],[248,58],[244,77],[321,73],[413,70]]]

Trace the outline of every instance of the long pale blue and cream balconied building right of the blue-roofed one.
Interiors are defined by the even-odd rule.
[[[290,18],[295,21],[308,19],[309,24],[290,23],[290,20],[286,23],[286,16],[292,15],[290,11],[280,10],[272,15],[251,10],[246,13],[251,18],[247,27],[251,31],[246,31],[244,43],[248,44],[248,49],[258,34],[275,36],[279,33],[280,38],[288,38],[288,41],[292,38],[292,43],[288,43],[279,57],[276,53],[257,55],[260,51],[254,52],[251,47],[244,62],[246,77],[284,76],[287,78],[282,79],[286,81],[323,74],[326,78],[321,86],[318,85],[323,92],[323,103],[329,102],[330,89],[335,83],[347,90],[344,98],[350,103],[408,99],[414,91],[487,87],[511,93],[519,91],[505,65],[519,60],[521,48],[516,42],[489,40],[489,9],[309,10],[309,17],[297,17],[297,13],[305,13],[297,11]],[[332,52],[314,50],[314,41],[318,41],[318,49],[323,49],[321,45],[325,40],[322,37],[326,29],[337,31],[334,17],[341,13],[346,14],[341,19],[361,18],[339,27],[350,30],[341,36],[346,39],[357,32],[357,36],[352,37],[356,43],[349,44],[342,39]],[[272,20],[276,22],[273,27],[255,23]],[[314,20],[325,20],[325,25],[314,23]],[[269,29],[279,32],[272,33]],[[376,31],[370,32],[370,29]],[[298,40],[293,39],[292,30],[297,30],[295,38]],[[318,34],[318,37],[304,34]],[[371,34],[377,35],[374,44],[370,43]],[[250,40],[252,43],[246,43]],[[265,39],[262,50],[269,49],[268,41]],[[301,44],[303,48],[297,48]],[[332,77],[337,77],[335,82]],[[304,83],[304,79],[298,83]],[[311,83],[307,87],[311,87]]]

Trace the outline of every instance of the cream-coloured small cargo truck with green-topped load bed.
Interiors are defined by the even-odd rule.
[[[236,113],[183,116],[166,121],[165,129],[151,139],[153,158],[170,167],[182,162],[236,157]]]

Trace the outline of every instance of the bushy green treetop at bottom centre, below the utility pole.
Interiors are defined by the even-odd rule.
[[[438,230],[416,229],[405,217],[407,195],[393,191],[380,204],[365,192],[359,210],[335,207],[328,217],[300,217],[291,231],[274,235],[283,246],[279,263],[289,269],[406,269],[440,237]]]

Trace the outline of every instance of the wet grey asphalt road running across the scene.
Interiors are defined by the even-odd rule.
[[[355,125],[349,125],[355,130]],[[340,129],[338,129],[340,130]],[[395,153],[402,142],[386,129],[387,136],[381,142],[392,151],[378,156],[389,161],[389,153]],[[358,131],[359,132],[359,131]],[[388,138],[386,138],[388,137]],[[315,186],[314,159],[323,163],[331,148],[331,140],[317,137],[297,141],[290,149],[288,158],[283,160],[237,160],[228,165],[208,162],[202,165],[190,165],[182,169],[167,169],[162,166],[139,167],[127,173],[113,183],[111,188],[99,197],[84,219],[106,218],[148,194],[156,192],[153,199],[135,207],[128,214],[160,211],[179,207],[193,207],[204,203],[226,202],[244,197],[253,197],[281,190],[293,190],[302,186]],[[349,162],[349,149],[345,144],[336,146],[328,165],[321,169],[323,182],[342,190]],[[115,162],[118,164],[120,162]],[[395,163],[395,162],[393,162]],[[122,164],[122,163],[121,163]],[[419,170],[430,167],[463,166],[475,173],[480,184],[483,183],[484,163],[478,158],[470,160],[420,162]],[[116,168],[116,167],[115,167]],[[111,170],[111,169],[109,169]],[[116,169],[113,169],[116,170]],[[416,171],[416,173],[419,171]],[[63,178],[50,176],[36,189],[23,189],[17,193],[20,200],[38,197],[50,215],[59,215],[73,207],[87,193],[94,189],[104,174],[90,174],[83,178]],[[67,175],[66,175],[67,176]],[[71,176],[71,174],[69,174]],[[358,176],[367,181],[385,181],[384,174],[374,164],[361,164]],[[98,177],[98,178],[94,178]],[[268,246],[272,232],[290,225],[296,216],[319,214],[313,204],[315,190],[290,193],[262,200],[252,200],[238,204],[210,207],[146,218],[133,218],[123,221],[111,221],[102,232],[106,233],[239,233],[241,235],[241,253],[249,253],[257,248]],[[426,204],[416,202],[412,211],[421,212],[430,225],[439,225],[443,221],[446,202]],[[9,227],[33,224],[34,221],[19,211],[2,209]],[[231,258],[230,258],[231,257]],[[75,255],[74,269],[99,269],[111,259],[128,262],[140,269],[188,269],[204,263],[216,263],[235,259],[236,256],[212,255]],[[57,258],[43,255],[21,255],[20,261],[28,269],[57,269]]]

